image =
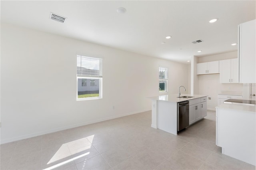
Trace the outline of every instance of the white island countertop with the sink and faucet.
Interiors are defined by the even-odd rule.
[[[147,97],[147,98],[152,99],[152,100],[169,101],[169,102],[178,103],[178,102],[181,102],[181,101],[188,101],[188,100],[192,100],[192,99],[206,97],[207,95],[181,94],[180,96],[193,96],[193,97],[192,98],[178,98],[178,94],[172,94],[172,95],[160,95],[160,96]]]

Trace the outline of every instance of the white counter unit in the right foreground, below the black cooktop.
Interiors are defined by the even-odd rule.
[[[222,147],[222,154],[256,165],[255,105],[216,107],[216,145]]]

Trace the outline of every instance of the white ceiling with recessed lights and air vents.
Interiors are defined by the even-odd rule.
[[[1,23],[185,63],[193,55],[236,51],[231,43],[238,41],[238,24],[256,18],[255,2],[1,0],[0,6]],[[126,13],[117,13],[119,7]],[[63,24],[52,21],[50,12],[68,19]],[[213,18],[218,21],[209,23]],[[192,43],[199,39],[203,42]]]

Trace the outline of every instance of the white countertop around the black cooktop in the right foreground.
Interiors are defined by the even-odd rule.
[[[256,107],[250,106],[250,105],[240,105],[240,104],[222,104],[218,105],[216,107],[217,109],[232,109],[232,110],[238,110],[238,111],[247,111],[247,112],[253,112],[256,113]]]

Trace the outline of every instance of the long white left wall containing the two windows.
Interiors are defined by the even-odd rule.
[[[77,53],[103,57],[103,99],[76,101]],[[159,65],[188,87],[188,65],[1,23],[1,143],[151,110]]]

